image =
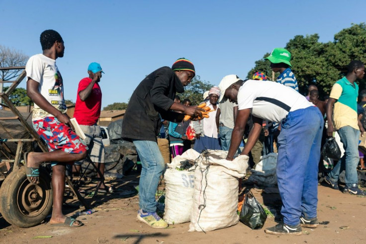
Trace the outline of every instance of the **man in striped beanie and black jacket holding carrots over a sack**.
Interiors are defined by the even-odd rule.
[[[153,71],[133,92],[123,118],[122,137],[135,144],[142,164],[137,219],[152,228],[168,227],[156,213],[155,200],[160,176],[165,163],[169,163],[164,162],[157,143],[161,119],[181,122],[184,115],[202,116],[204,110],[174,102],[176,93],[183,93],[194,75],[192,62],[185,58],[178,59],[172,68],[165,66]]]

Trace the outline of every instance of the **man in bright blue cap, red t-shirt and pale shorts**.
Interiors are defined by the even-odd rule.
[[[104,73],[98,63],[91,63],[88,67],[89,77],[79,82],[78,94],[75,104],[74,117],[83,130],[84,139],[89,147],[89,155],[92,162],[100,170],[101,178],[104,175],[105,150],[102,143],[100,126],[97,124],[101,110],[101,90],[99,86],[101,73]],[[75,162],[74,172],[80,172],[83,161]],[[107,188],[104,181],[99,182],[99,192],[111,193],[113,188]]]

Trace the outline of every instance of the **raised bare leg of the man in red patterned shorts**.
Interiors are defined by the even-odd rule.
[[[29,152],[27,157],[28,167],[39,167],[42,162],[56,161],[56,162],[73,162],[80,161],[87,156],[87,151],[83,153],[68,153],[63,150],[56,150],[52,152]],[[38,183],[38,177],[29,177],[34,183]],[[63,192],[62,192],[63,194]]]

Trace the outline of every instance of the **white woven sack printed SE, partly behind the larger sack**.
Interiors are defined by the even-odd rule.
[[[193,202],[194,166],[187,170],[178,170],[184,160],[195,160],[199,153],[189,149],[176,156],[172,163],[167,164],[165,180],[165,210],[163,219],[168,224],[189,222]]]

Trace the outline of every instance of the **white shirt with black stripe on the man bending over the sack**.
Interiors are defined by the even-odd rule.
[[[292,88],[271,81],[247,80],[238,92],[239,110],[252,109],[253,116],[281,122],[289,112],[314,106]]]

